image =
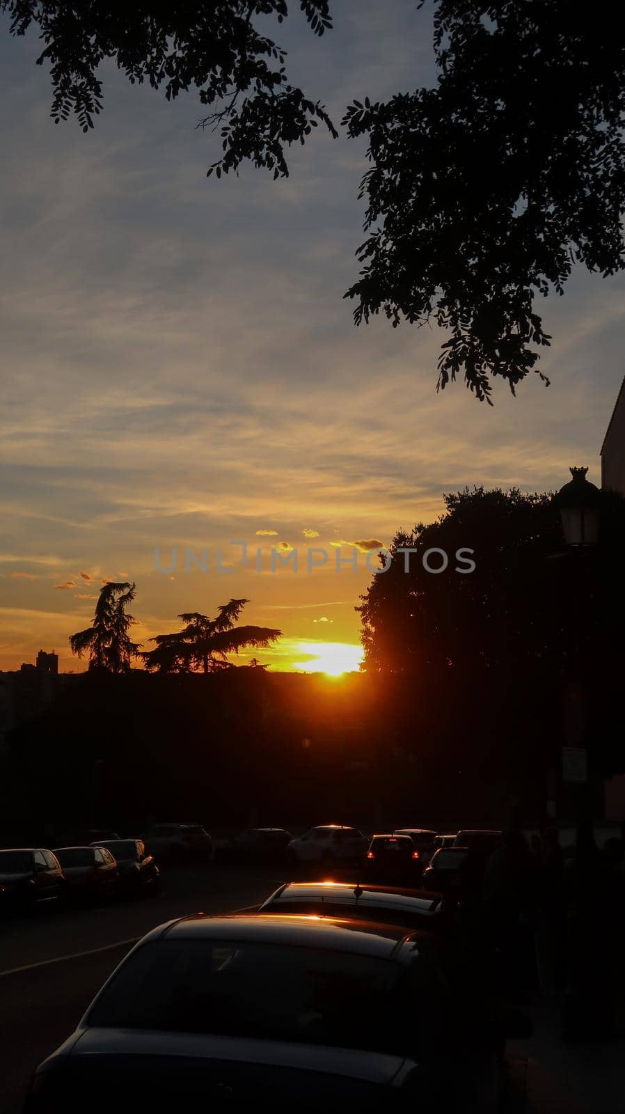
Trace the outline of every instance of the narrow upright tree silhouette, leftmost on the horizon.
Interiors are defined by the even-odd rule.
[[[134,643],[128,634],[135,619],[126,610],[135,590],[135,584],[128,582],[102,585],[91,626],[70,635],[71,653],[78,657],[88,654],[90,670],[124,673],[138,656],[140,643]]]

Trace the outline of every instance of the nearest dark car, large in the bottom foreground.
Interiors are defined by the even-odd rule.
[[[514,1034],[518,1035],[517,1033]],[[427,932],[353,920],[185,917],[129,952],[37,1068],[27,1114],[495,1110],[497,1032]]]

